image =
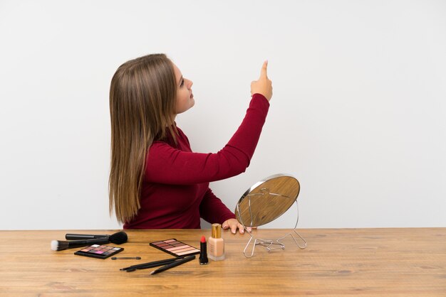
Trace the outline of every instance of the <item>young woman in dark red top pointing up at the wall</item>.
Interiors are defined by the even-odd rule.
[[[218,153],[192,152],[176,126],[177,114],[194,106],[192,81],[164,54],[120,65],[110,85],[110,213],[124,229],[195,229],[200,217],[232,233],[244,232],[209,188],[249,166],[272,96],[266,75],[251,82],[242,124]]]

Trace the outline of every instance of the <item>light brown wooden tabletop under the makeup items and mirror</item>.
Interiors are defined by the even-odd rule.
[[[247,259],[249,235],[223,232],[224,261],[198,260],[150,276],[153,269],[120,268],[167,259],[149,242],[176,238],[199,247],[209,229],[128,230],[118,254],[141,260],[93,259],[53,252],[51,239],[66,233],[113,234],[116,230],[0,231],[1,296],[446,296],[446,228],[301,229],[308,242],[299,249],[256,247]],[[258,229],[278,238],[287,229]]]

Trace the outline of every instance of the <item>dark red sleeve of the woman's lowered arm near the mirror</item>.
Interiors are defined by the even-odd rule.
[[[234,213],[212,193],[210,188],[204,193],[203,200],[199,205],[199,215],[211,224],[223,224],[226,220],[235,219]]]

